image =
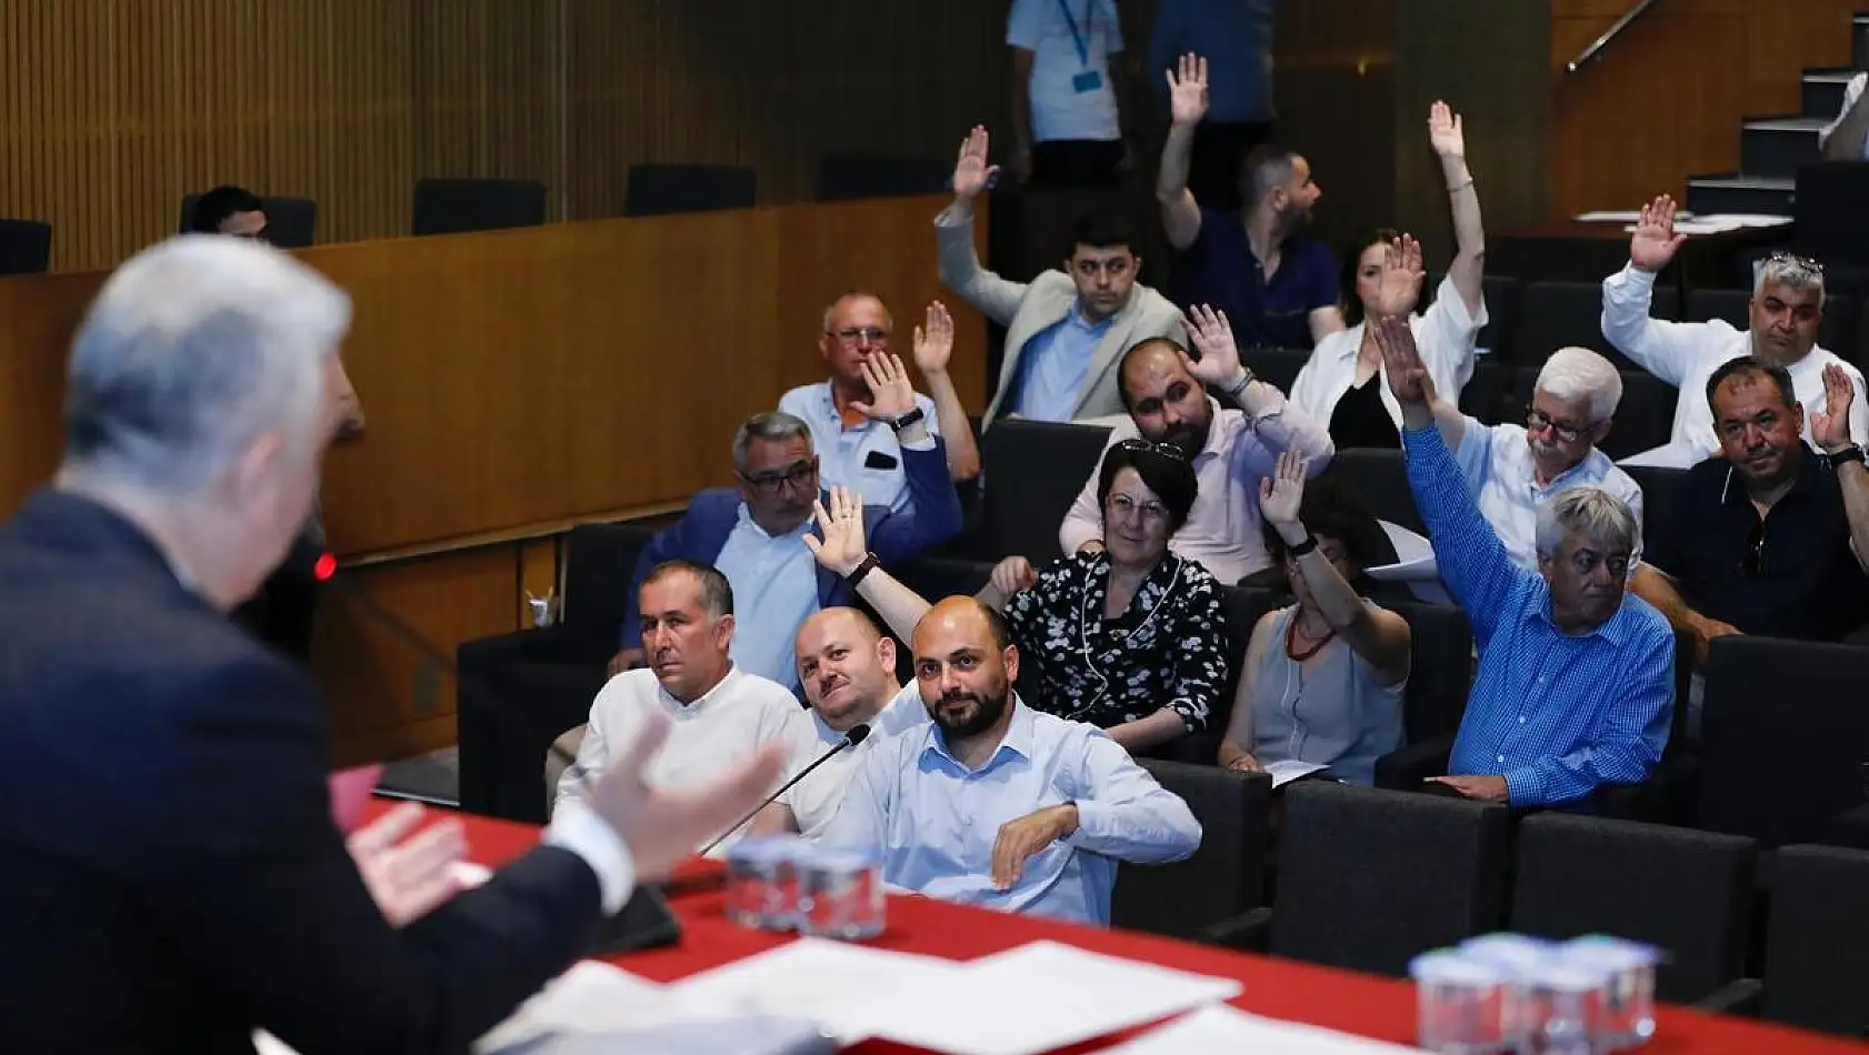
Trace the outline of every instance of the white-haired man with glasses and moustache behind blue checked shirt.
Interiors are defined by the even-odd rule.
[[[1538,570],[1538,506],[1572,487],[1609,491],[1641,525],[1641,485],[1596,450],[1622,401],[1622,373],[1602,355],[1553,351],[1533,385],[1523,426],[1488,426],[1430,396],[1441,443],[1519,568]]]

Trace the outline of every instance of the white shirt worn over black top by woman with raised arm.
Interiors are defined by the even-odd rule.
[[[1480,312],[1469,314],[1467,302],[1454,289],[1452,278],[1443,278],[1434,295],[1434,304],[1422,316],[1409,316],[1409,329],[1415,331],[1415,344],[1420,347],[1420,362],[1428,368],[1437,396],[1448,403],[1460,401],[1460,390],[1473,377],[1473,357],[1478,355],[1480,327],[1488,323],[1486,302]],[[1357,323],[1348,331],[1336,331],[1318,342],[1305,370],[1297,372],[1291,383],[1291,401],[1305,409],[1325,429],[1331,428],[1331,415],[1336,401],[1349,392],[1357,381],[1357,355],[1363,351],[1363,334],[1368,323]],[[1402,429],[1402,403],[1389,390],[1389,368],[1377,366],[1372,385],[1379,385],[1377,394],[1389,418]]]

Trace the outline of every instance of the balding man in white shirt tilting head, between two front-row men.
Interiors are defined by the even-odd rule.
[[[798,627],[798,682],[811,702],[817,736],[792,760],[787,775],[800,773],[860,724],[869,734],[845,747],[766,807],[751,823],[753,835],[796,831],[817,837],[837,816],[843,790],[865,753],[884,739],[927,724],[921,695],[895,680],[895,640],[856,609],[824,609]]]

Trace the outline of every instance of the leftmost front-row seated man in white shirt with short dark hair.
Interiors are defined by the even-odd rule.
[[[725,575],[665,560],[643,581],[641,616],[649,668],[611,678],[591,704],[589,723],[553,743],[553,758],[578,758],[551,782],[553,812],[583,809],[589,777],[606,771],[654,713],[671,719],[669,739],[647,771],[662,788],[699,788],[738,771],[768,743],[798,756],[811,741],[798,698],[727,657],[733,588]],[[548,781],[551,769],[548,760]]]

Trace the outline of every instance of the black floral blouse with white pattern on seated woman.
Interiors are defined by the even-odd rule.
[[[1206,728],[1226,691],[1226,614],[1213,575],[1170,553],[1136,588],[1129,611],[1103,618],[1110,558],[1052,562],[1006,603],[1019,655],[1039,667],[1041,711],[1099,728],[1172,708]]]

